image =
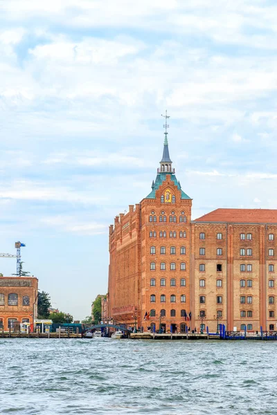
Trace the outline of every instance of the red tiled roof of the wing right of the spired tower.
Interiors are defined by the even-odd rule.
[[[277,223],[277,209],[217,209],[196,222]]]

